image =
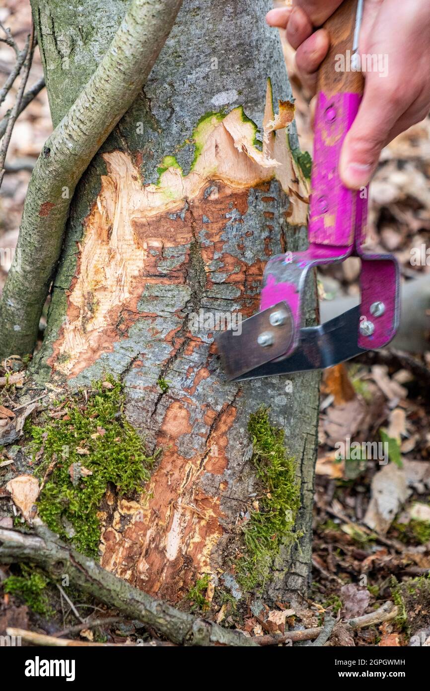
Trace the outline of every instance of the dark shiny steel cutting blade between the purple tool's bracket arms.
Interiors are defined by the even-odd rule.
[[[298,348],[291,357],[268,362],[240,377],[235,377],[233,381],[323,370],[350,360],[362,352],[367,352],[358,346],[359,325],[360,305],[325,324],[302,328]]]

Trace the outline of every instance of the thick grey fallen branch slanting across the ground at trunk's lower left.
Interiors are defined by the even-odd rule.
[[[224,629],[211,621],[179,612],[162,600],[155,600],[102,569],[92,559],[70,549],[43,526],[37,527],[36,535],[0,528],[0,563],[14,562],[37,564],[52,580],[67,574],[70,584],[115,607],[126,618],[152,627],[157,634],[178,645],[257,646],[240,631]]]

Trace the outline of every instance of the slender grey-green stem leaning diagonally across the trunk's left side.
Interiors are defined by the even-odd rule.
[[[19,229],[21,261],[12,264],[3,288],[0,354],[32,352],[76,185],[139,95],[181,5],[131,0],[106,55],[43,146]]]

